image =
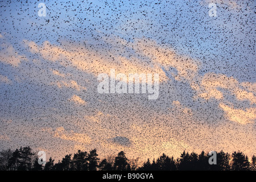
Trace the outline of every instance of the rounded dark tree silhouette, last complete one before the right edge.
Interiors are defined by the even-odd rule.
[[[248,157],[243,155],[242,152],[233,152],[232,154],[232,170],[234,171],[247,171],[250,169]]]

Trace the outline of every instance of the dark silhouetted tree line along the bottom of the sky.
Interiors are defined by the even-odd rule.
[[[55,163],[49,158],[45,164],[39,164],[38,156],[32,152],[31,147],[20,147],[15,151],[2,150],[0,152],[1,171],[256,171],[256,157],[251,161],[243,152],[229,154],[224,151],[217,152],[216,164],[209,164],[210,156],[202,151],[200,154],[183,151],[179,158],[162,154],[156,160],[147,159],[141,166],[139,157],[127,159],[125,152],[117,156],[98,158],[97,150],[89,152],[77,151],[75,154],[65,155],[62,160]]]

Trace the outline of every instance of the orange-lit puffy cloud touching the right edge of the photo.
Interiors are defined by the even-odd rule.
[[[215,98],[220,102],[220,108],[225,111],[226,118],[230,121],[240,124],[254,122],[255,107],[253,104],[256,103],[255,83],[240,83],[234,77],[217,73],[206,73],[203,78],[199,77],[198,80],[199,84],[192,86],[192,88],[197,92],[197,95],[194,98],[201,97],[205,100]],[[246,105],[245,108],[245,105],[242,105],[243,101],[248,101],[250,105]],[[237,107],[241,107],[241,109],[229,107],[227,104],[230,103],[236,104]]]

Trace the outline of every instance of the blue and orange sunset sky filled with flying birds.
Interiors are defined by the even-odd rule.
[[[254,1],[1,1],[0,17],[1,150],[256,155]],[[158,98],[98,93],[110,69],[158,74]]]

